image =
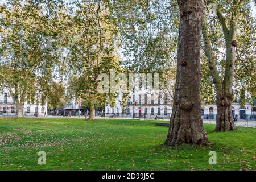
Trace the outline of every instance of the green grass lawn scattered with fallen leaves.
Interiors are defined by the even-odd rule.
[[[1,170],[256,170],[256,129],[214,133],[209,146],[166,147],[168,127],[130,119],[0,118]],[[46,165],[38,152],[46,152]],[[217,164],[208,163],[209,151]]]

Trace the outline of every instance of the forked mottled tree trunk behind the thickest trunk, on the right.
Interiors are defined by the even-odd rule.
[[[237,5],[236,5],[237,9]],[[216,61],[214,60],[212,52],[212,42],[209,38],[206,15],[203,16],[202,34],[204,38],[205,55],[209,64],[209,70],[213,78],[213,83],[216,88],[216,105],[217,105],[217,117],[215,131],[233,131],[237,127],[234,123],[232,116],[232,86],[234,80],[234,64],[236,60],[236,18],[232,15],[230,28],[226,25],[226,20],[221,14],[220,10],[217,10],[217,18],[221,23],[222,31],[226,44],[226,65],[225,76],[221,80]]]

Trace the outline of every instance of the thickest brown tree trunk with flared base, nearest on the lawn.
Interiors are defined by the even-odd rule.
[[[180,0],[177,77],[166,144],[208,144],[200,109],[200,30],[202,0]]]

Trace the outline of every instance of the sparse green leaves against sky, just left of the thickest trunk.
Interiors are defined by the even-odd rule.
[[[179,11],[176,1],[113,1],[129,72],[163,73],[176,56]]]

